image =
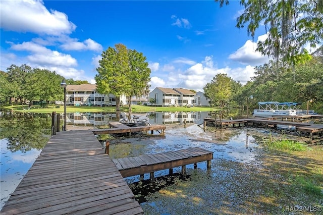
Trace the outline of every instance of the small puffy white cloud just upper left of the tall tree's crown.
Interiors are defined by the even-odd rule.
[[[86,39],[84,42],[78,42],[77,39],[73,39],[72,41],[68,41],[61,45],[61,47],[65,50],[93,50],[93,51],[102,51],[103,47],[101,44],[95,42],[92,39]]]

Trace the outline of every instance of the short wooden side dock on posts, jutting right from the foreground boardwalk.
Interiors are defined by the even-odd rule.
[[[187,148],[178,151],[168,151],[155,154],[144,154],[137,157],[125,157],[113,159],[123,177],[130,177],[150,173],[150,180],[154,180],[154,172],[159,170],[170,170],[173,173],[173,168],[182,167],[182,173],[185,174],[185,165],[196,164],[206,160],[207,169],[211,167],[211,159],[213,152],[199,148]]]

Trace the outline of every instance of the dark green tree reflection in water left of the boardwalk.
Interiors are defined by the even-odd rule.
[[[12,152],[42,149],[50,134],[51,118],[47,114],[3,113],[0,118],[0,138],[8,140]]]

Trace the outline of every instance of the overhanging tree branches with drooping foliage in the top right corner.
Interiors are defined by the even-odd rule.
[[[227,0],[215,0],[228,5]],[[240,4],[244,13],[237,18],[237,28],[247,25],[247,33],[254,38],[256,30],[264,24],[268,37],[259,41],[257,49],[263,55],[279,59],[294,66],[310,60],[306,44],[316,47],[323,39],[323,1],[267,0],[245,1]]]

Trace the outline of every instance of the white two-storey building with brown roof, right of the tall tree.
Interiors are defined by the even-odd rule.
[[[159,106],[209,106],[209,101],[203,92],[194,93],[191,90],[183,88],[163,88],[156,87],[149,93],[150,98],[155,99],[155,105]]]

